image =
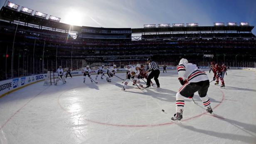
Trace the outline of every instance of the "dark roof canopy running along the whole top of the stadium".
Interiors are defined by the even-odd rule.
[[[62,22],[56,22],[42,17],[36,17],[24,12],[2,7],[0,10],[0,19],[7,21],[20,21],[29,24],[35,24],[54,29],[62,29],[73,32],[80,32],[83,27],[73,26]],[[89,27],[88,27],[89,28]],[[96,27],[94,27],[96,28]],[[153,27],[153,28],[133,28],[132,33],[150,33],[150,32],[193,32],[193,31],[237,31],[237,32],[251,32],[254,26],[203,26],[203,27]],[[99,28],[102,29],[102,28]],[[106,28],[105,28],[106,29]],[[110,28],[115,29],[115,28]],[[116,29],[130,29],[130,28],[116,28]]]

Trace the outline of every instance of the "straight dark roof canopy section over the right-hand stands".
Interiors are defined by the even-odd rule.
[[[154,28],[136,28],[132,33],[149,33],[149,32],[199,32],[199,31],[238,31],[251,32],[254,26],[203,26],[203,27],[154,27]]]

